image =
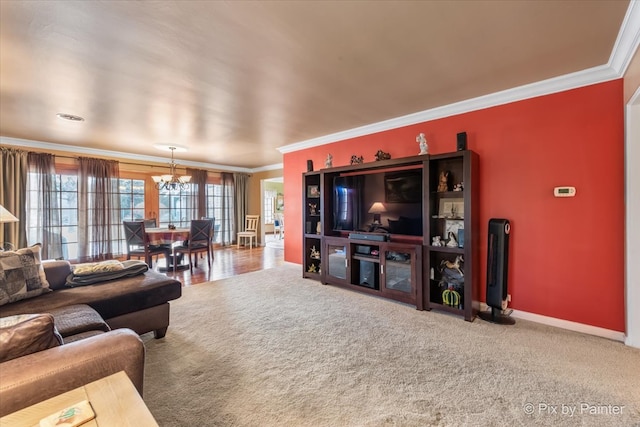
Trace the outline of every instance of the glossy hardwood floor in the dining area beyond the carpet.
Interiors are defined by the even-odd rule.
[[[236,249],[236,246],[233,245],[215,249],[211,268],[207,265],[207,257],[204,254],[203,258],[198,258],[198,267],[193,267],[193,274],[189,272],[189,269],[177,271],[175,276],[173,271],[166,274],[180,280],[183,286],[191,286],[277,267],[282,264],[284,264],[284,249],[271,246]],[[163,265],[164,260],[161,258],[157,265],[154,263],[154,270],[157,271],[158,267]]]

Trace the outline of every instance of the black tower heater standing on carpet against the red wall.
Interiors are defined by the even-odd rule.
[[[509,273],[509,234],[507,219],[489,220],[489,246],[487,249],[487,305],[491,312],[478,313],[481,319],[501,325],[513,325],[514,319],[502,314],[507,302],[507,274]]]

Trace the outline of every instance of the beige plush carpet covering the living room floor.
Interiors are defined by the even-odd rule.
[[[161,426],[640,425],[638,349],[417,311],[293,264],[185,288],[167,336],[143,339]]]

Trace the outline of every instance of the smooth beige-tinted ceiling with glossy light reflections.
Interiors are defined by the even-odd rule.
[[[278,147],[607,65],[628,7],[2,0],[0,135],[259,168]]]

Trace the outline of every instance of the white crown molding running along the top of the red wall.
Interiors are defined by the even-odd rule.
[[[618,37],[616,38],[616,42],[613,46],[611,56],[609,57],[609,62],[606,65],[588,68],[575,73],[553,77],[512,89],[495,92],[489,95],[432,108],[430,110],[420,111],[406,116],[396,117],[382,122],[324,135],[318,138],[295,142],[293,144],[278,147],[278,151],[283,154],[292,153],[294,151],[331,144],[345,139],[370,135],[404,126],[415,125],[431,120],[437,120],[619,79],[624,75],[629,63],[633,59],[633,55],[638,49],[639,42],[640,1],[631,0],[622,21],[620,31],[618,32]]]

